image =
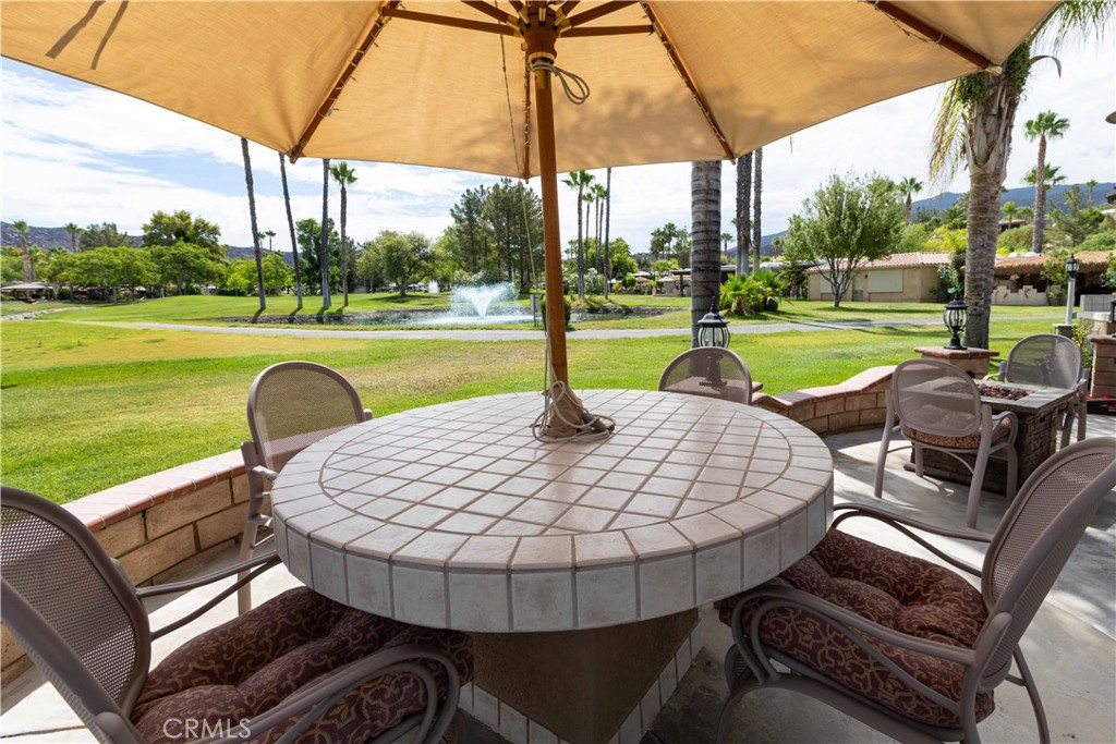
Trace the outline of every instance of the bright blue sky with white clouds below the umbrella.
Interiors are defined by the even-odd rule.
[[[1116,180],[1116,127],[1104,117],[1116,109],[1116,46],[1068,45],[1062,74],[1039,62],[1020,105],[1007,185],[1022,184],[1036,145],[1023,123],[1052,109],[1070,129],[1049,146],[1048,161],[1069,182]],[[0,64],[2,165],[0,211],[7,222],[39,226],[115,222],[132,234],[156,210],[189,210],[221,225],[222,238],[251,243],[239,138],[205,124],[119,94],[31,67]],[[878,172],[893,178],[926,178],[927,142],[937,88],[927,88],[819,124],[764,148],[763,232],[786,228],[802,199],[830,173]],[[286,234],[278,157],[252,145],[260,230]],[[349,233],[366,240],[384,229],[436,236],[450,223],[461,193],[494,178],[475,174],[352,162],[358,178],[349,190]],[[321,211],[320,161],[288,166],[296,220]],[[604,180],[604,171],[597,174]],[[538,187],[538,182],[531,182]],[[965,191],[961,173],[947,189]],[[724,230],[731,232],[734,168],[722,180]],[[571,192],[561,189],[564,241],[576,235]],[[613,234],[644,250],[651,231],[666,222],[690,224],[687,163],[615,168]],[[338,211],[336,193],[331,213]],[[276,239],[276,248],[289,250]]]

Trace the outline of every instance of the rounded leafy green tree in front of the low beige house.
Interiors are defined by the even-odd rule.
[[[792,261],[821,262],[833,288],[834,307],[865,261],[889,255],[903,232],[898,193],[879,178],[830,176],[792,215],[783,254]]]

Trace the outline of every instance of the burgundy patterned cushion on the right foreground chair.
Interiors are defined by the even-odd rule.
[[[972,648],[988,619],[980,592],[955,573],[837,530],[829,530],[809,555],[771,583],[809,592],[898,632],[965,648]],[[733,609],[745,597],[721,602],[722,622],[732,622]],[[753,607],[742,613],[745,628],[763,600],[748,601]],[[961,725],[955,714],[910,689],[817,615],[791,608],[770,611],[760,621],[760,637],[892,711],[934,726]],[[961,698],[961,665],[864,637],[918,682],[951,699]],[[991,692],[977,696],[977,721],[993,709]]]

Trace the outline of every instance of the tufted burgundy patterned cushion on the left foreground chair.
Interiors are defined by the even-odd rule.
[[[208,733],[235,735],[240,721],[277,705],[333,669],[379,649],[415,644],[442,651],[458,668],[461,683],[472,678],[466,636],[376,617],[331,601],[309,589],[291,589],[271,601],[176,649],[147,677],[132,723],[145,742],[182,742]],[[445,673],[434,673],[439,696]],[[300,742],[364,742],[422,711],[426,692],[413,674],[377,677],[340,699]],[[196,721],[194,736],[184,728]],[[272,728],[275,742],[295,719]]]

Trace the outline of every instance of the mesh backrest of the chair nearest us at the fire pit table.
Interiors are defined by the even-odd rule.
[[[980,429],[980,390],[959,367],[907,359],[892,375],[899,422],[925,434],[968,436]]]

